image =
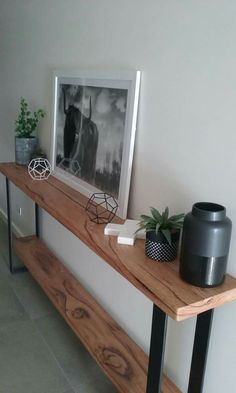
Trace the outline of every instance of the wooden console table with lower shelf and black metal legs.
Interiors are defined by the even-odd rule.
[[[144,255],[144,242],[119,245],[104,236],[104,225],[92,223],[87,198],[53,176],[33,181],[25,167],[0,164],[6,177],[9,264],[12,245],[27,269],[46,292],[69,326],[121,393],[180,393],[162,374],[168,316],[176,321],[197,315],[188,393],[200,393],[210,338],[213,309],[236,299],[236,279],[226,275],[217,288],[197,288],[182,281],[178,261],[156,263]],[[35,202],[36,236],[12,241],[10,183]],[[81,239],[153,302],[149,357],[86,291],[39,239],[38,207],[47,211]],[[82,261],[79,263],[83,263]]]

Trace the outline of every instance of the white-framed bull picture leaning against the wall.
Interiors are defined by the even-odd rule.
[[[126,218],[140,71],[56,71],[54,175],[90,197],[106,192]]]

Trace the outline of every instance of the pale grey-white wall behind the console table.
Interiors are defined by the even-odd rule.
[[[21,96],[46,108],[49,152],[54,68],[140,69],[130,217],[210,200],[235,223],[235,17],[232,0],[1,0],[0,160],[14,160]],[[3,206],[3,179],[0,186]],[[148,350],[151,303],[46,214],[42,226],[57,255]],[[228,271],[236,276],[235,237]],[[232,303],[215,312],[204,393],[235,390],[235,311]],[[190,320],[168,330],[166,371],[183,392],[193,328]]]

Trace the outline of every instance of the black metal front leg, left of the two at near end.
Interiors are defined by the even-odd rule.
[[[167,315],[154,304],[146,393],[161,392],[166,328]]]

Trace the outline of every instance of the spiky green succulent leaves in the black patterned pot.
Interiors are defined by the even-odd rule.
[[[151,216],[141,215],[138,231],[145,229],[146,232],[155,232],[156,234],[161,232],[168,243],[171,244],[171,234],[182,228],[184,214],[169,216],[168,207],[165,208],[163,213],[160,213],[154,207],[151,207],[150,210]]]

